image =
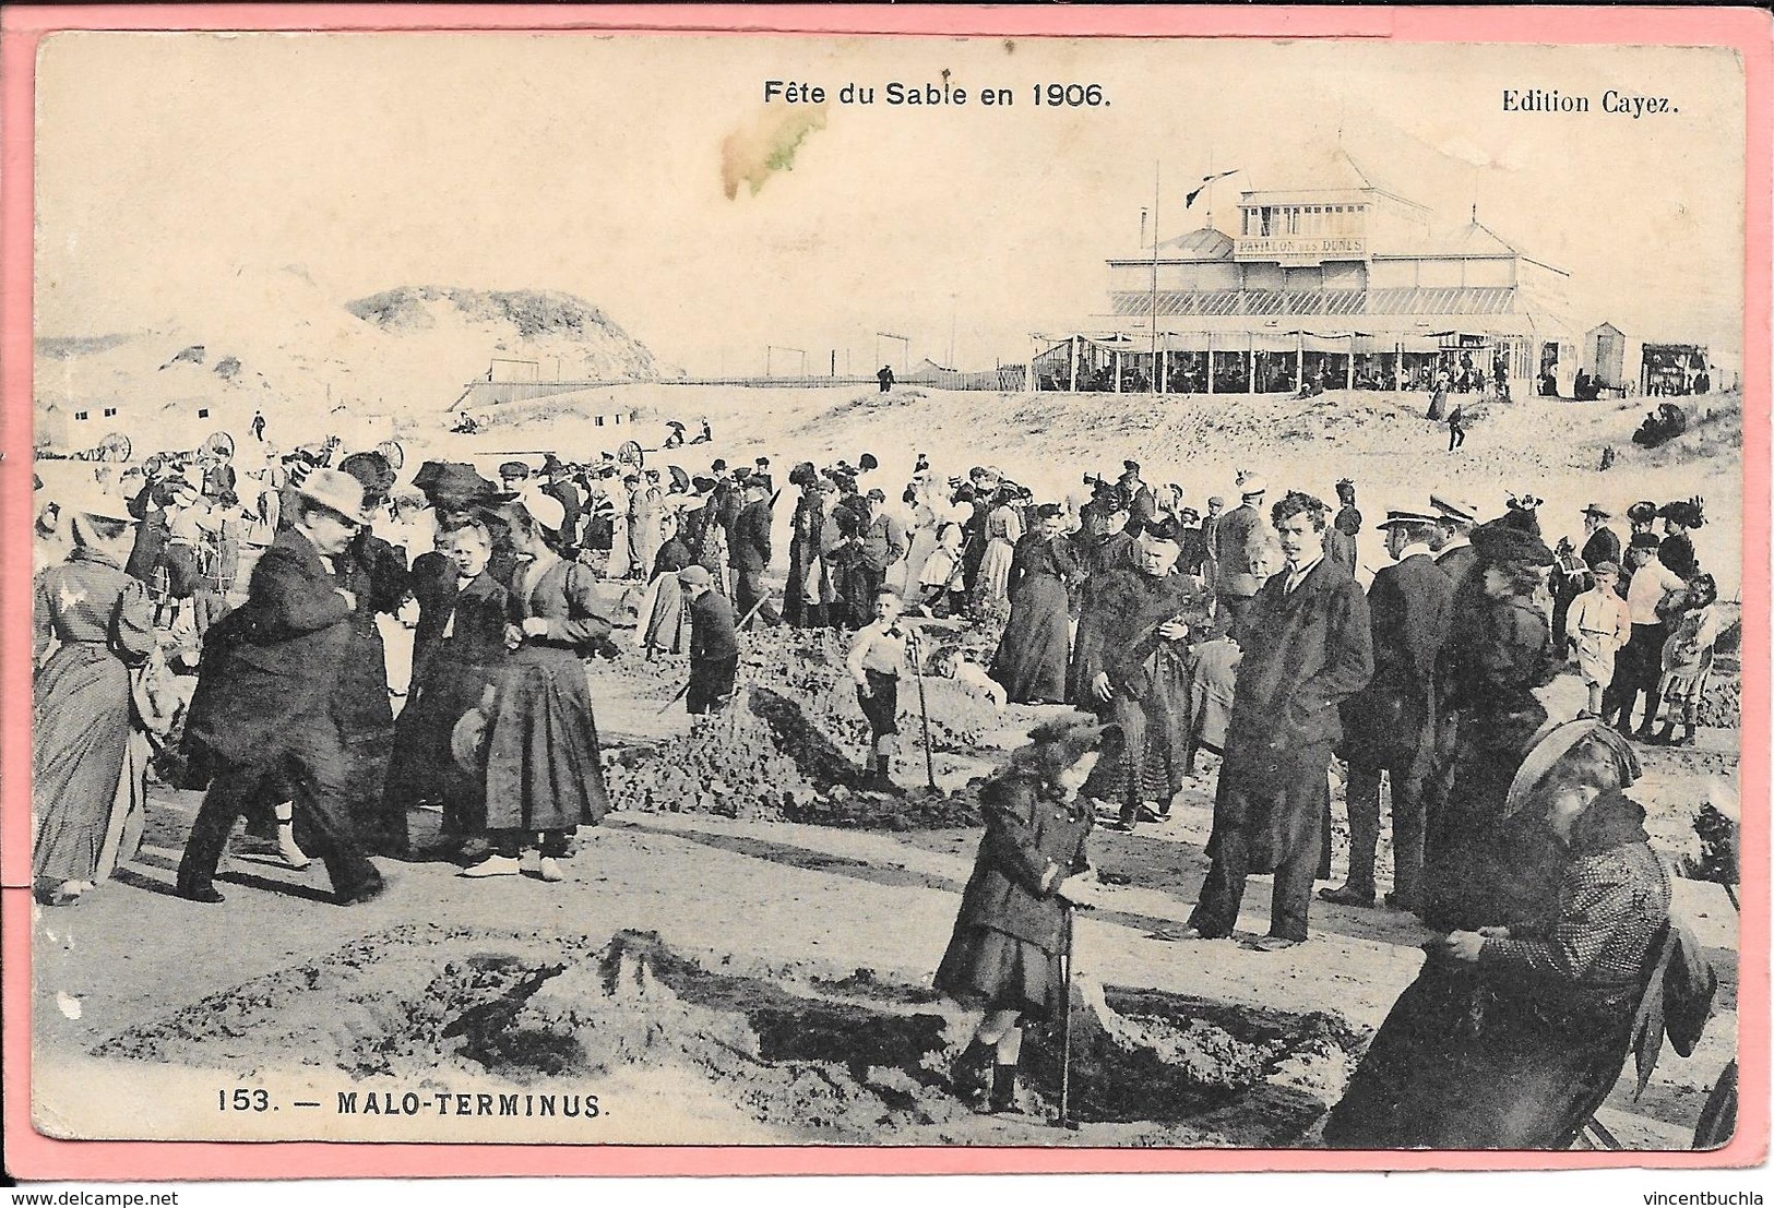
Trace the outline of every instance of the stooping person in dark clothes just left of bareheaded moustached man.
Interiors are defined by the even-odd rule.
[[[1095,710],[1118,727],[1084,791],[1119,796],[1123,830],[1139,823],[1139,809],[1148,800],[1150,745],[1158,743],[1157,763],[1169,773],[1166,784],[1153,786],[1160,816],[1180,788],[1189,754],[1183,651],[1190,631],[1206,623],[1206,607],[1194,584],[1173,573],[1180,553],[1176,541],[1148,532],[1135,550],[1135,566],[1093,580],[1079,616],[1071,676],[1080,708]]]

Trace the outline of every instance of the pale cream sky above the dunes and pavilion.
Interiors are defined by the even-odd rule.
[[[889,106],[951,73],[965,106]],[[765,82],[876,87],[823,112]],[[1032,105],[1045,82],[1107,106]],[[1011,90],[1009,108],[977,103]],[[1504,89],[1588,96],[1503,112]],[[1605,89],[1673,112],[1600,112]],[[962,367],[1091,326],[1103,259],[1229,227],[1242,188],[1346,149],[1446,225],[1472,206],[1572,273],[1570,314],[1740,348],[1735,55],[1378,41],[710,39],[582,34],[62,34],[39,55],[37,332],[200,314],[300,264],[339,296],[562,289],[694,374],[880,353]],[[722,188],[729,137],[804,126],[791,167]],[[823,124],[821,124],[823,122]],[[1100,323],[1100,319],[1098,319]]]

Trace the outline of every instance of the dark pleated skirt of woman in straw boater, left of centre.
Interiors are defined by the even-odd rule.
[[[520,646],[500,676],[486,724],[490,830],[573,830],[610,809],[577,651]]]

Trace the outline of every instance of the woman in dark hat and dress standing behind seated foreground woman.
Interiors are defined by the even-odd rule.
[[[1472,548],[1476,587],[1455,592],[1435,669],[1455,738],[1426,818],[1423,919],[1448,928],[1533,917],[1536,887],[1550,883],[1558,866],[1542,827],[1503,818],[1510,780],[1547,720],[1535,688],[1561,669],[1550,623],[1533,603],[1552,552],[1501,520],[1474,529]]]

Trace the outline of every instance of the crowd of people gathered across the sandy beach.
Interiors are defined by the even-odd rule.
[[[1625,541],[1591,504],[1581,552],[1554,552],[1531,495],[1483,522],[1430,495],[1370,529],[1348,479],[1332,509],[1306,490],[1270,498],[1240,472],[1235,507],[1213,495],[1197,513],[1132,459],[1057,500],[993,467],[942,477],[922,454],[903,490],[871,484],[867,454],[802,461],[786,477],[777,610],[766,575],[782,490],[766,458],[692,477],[548,454],[539,468],[507,461],[498,482],[428,461],[397,488],[380,452],[337,465],[334,445],[261,452],[250,506],[216,451],[82,481],[41,509],[46,903],[80,901],[130,859],[156,745],[165,775],[206,789],[177,871],[192,901],[222,901],[213,878],[241,814],[287,862],[321,859],[341,903],[373,899],[385,883],[367,857],[408,855],[408,811],[426,804],[463,876],[564,880],[575,830],[608,809],[584,669],[617,653],[598,587],[630,580],[648,587],[644,653],[690,656],[697,717],[734,694],[738,631],[848,633],[876,789],[896,791],[899,679],[935,655],[921,628],[985,635],[1008,701],[1079,711],[985,784],[979,862],[937,974],[983,1011],[956,1084],[986,1105],[1015,1100],[1022,1022],[1064,993],[1066,903],[1102,892],[1086,875],[1096,804],[1119,830],[1164,823],[1201,750],[1221,759],[1210,869],[1189,924],[1155,938],[1231,937],[1249,876],[1270,873],[1268,931],[1247,945],[1306,942],[1315,882],[1330,875],[1336,765],[1352,853],[1345,882],[1316,898],[1412,912],[1442,937],[1329,1141],[1570,1144],[1611,1086],[1609,1061],[1618,1073],[1623,1020],[1669,935],[1668,875],[1623,795],[1632,741],[1694,741],[1723,628],[1689,536],[1698,498],[1634,504]],[[1366,543],[1385,564],[1364,589]],[[413,630],[406,676],[392,624]],[[1565,669],[1588,708],[1559,722],[1536,690]],[[174,713],[183,733],[156,733]],[[1515,1064],[1499,1064],[1499,1045]],[[1547,1047],[1563,1080],[1547,1082]],[[1416,1103],[1400,1080],[1433,1086],[1425,1063],[1449,1086],[1536,1107],[1487,1116],[1480,1091]]]

